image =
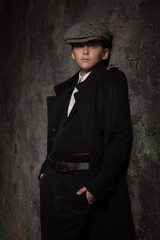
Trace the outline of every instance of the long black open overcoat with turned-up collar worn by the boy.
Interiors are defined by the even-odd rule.
[[[48,97],[48,153],[51,152],[53,130],[59,126],[68,91],[77,79],[78,73],[55,86],[56,96]],[[106,70],[103,64],[99,64],[84,84],[86,87],[83,91],[79,89],[75,99],[92,154],[90,180],[86,188],[103,206],[101,224],[105,221],[112,225],[111,230],[106,228],[106,239],[131,240],[134,233],[125,179],[132,142],[127,80],[121,71]],[[45,161],[40,173],[46,166]],[[114,229],[118,235],[111,233]]]

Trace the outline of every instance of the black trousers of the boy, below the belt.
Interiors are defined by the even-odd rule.
[[[90,206],[85,193],[76,194],[88,177],[88,170],[62,173],[47,168],[40,179],[42,240],[88,239]]]

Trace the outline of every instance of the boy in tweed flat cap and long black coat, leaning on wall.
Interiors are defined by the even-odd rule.
[[[48,97],[42,240],[134,240],[125,180],[132,142],[125,75],[105,68],[111,35],[104,25],[76,24],[65,41],[80,71]]]

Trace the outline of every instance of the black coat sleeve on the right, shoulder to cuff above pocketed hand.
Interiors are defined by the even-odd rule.
[[[113,72],[111,75],[110,137],[109,140],[104,140],[104,154],[100,171],[86,185],[88,191],[99,201],[103,201],[106,196],[115,191],[119,177],[125,176],[132,143],[127,79],[121,71]],[[107,135],[105,129],[106,126],[104,126],[104,136]]]

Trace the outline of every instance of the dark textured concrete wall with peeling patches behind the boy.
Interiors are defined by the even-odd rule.
[[[134,131],[128,183],[137,239],[160,239],[159,15],[158,0],[0,1],[0,227],[7,240],[40,239],[46,97],[77,70],[64,31],[92,19],[108,23],[110,65],[128,77]]]

